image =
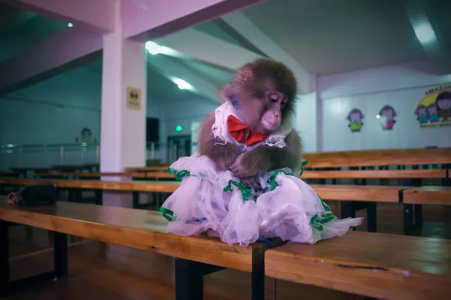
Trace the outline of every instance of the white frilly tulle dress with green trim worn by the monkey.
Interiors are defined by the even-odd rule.
[[[238,118],[229,102],[215,110],[212,131],[224,143],[235,143],[243,151],[261,144],[285,146],[286,134],[282,131],[251,147],[236,142],[227,131],[229,115]],[[363,218],[337,219],[313,188],[299,179],[301,170],[298,176],[287,168],[259,174],[263,191],[244,186],[232,172],[218,169],[215,162],[198,152],[181,157],[169,167],[169,172],[181,180],[181,186],[167,198],[160,211],[169,220],[168,232],[174,234],[196,236],[212,229],[230,245],[248,246],[259,239],[274,237],[315,244],[321,239],[341,236],[363,221]]]

